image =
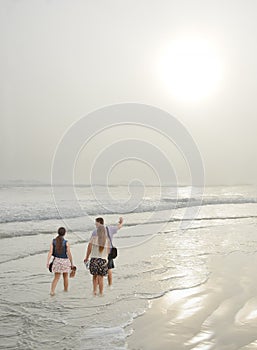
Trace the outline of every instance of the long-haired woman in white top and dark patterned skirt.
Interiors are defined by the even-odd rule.
[[[103,225],[97,228],[97,235],[92,236],[88,243],[87,253],[84,259],[86,263],[90,256],[89,270],[93,275],[93,293],[96,295],[97,286],[99,285],[99,293],[103,295],[103,278],[108,273],[108,254],[110,251],[109,239],[106,229]]]

